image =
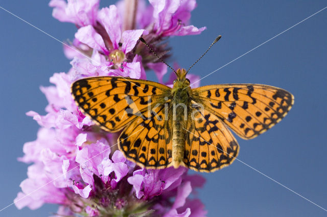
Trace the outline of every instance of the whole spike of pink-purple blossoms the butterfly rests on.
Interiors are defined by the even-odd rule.
[[[46,113],[27,112],[40,129],[35,141],[24,144],[24,156],[18,158],[32,165],[14,200],[17,208],[37,209],[53,203],[61,205],[55,216],[118,216],[127,215],[126,210],[138,216],[139,207],[144,207],[145,213],[154,210],[158,216],[204,216],[200,201],[188,199],[196,195],[203,178],[189,176],[183,167],[146,170],[126,160],[116,147],[119,134],[96,126],[81,113],[70,93],[71,84],[80,78],[121,75],[145,79],[148,68],[162,83],[166,65],[149,58],[149,50],[138,39],[145,35],[154,49],[167,57],[166,46],[157,44],[161,37],[203,30],[181,25],[188,22],[195,1],[151,1],[147,7],[140,0],[135,24],[149,31],[123,31],[121,3],[100,10],[98,0],[51,0],[49,5],[54,7],[55,18],[75,23],[78,30],[72,46],[64,46],[72,68],[55,73],[50,78],[53,86],[40,88],[49,103]],[[193,32],[186,31],[188,28]]]

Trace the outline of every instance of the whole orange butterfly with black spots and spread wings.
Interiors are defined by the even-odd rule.
[[[288,91],[261,84],[190,87],[178,69],[170,88],[123,77],[77,80],[71,91],[80,110],[103,130],[122,131],[118,147],[136,164],[159,169],[185,166],[214,172],[235,160],[239,144],[228,128],[251,139],[291,109]]]

